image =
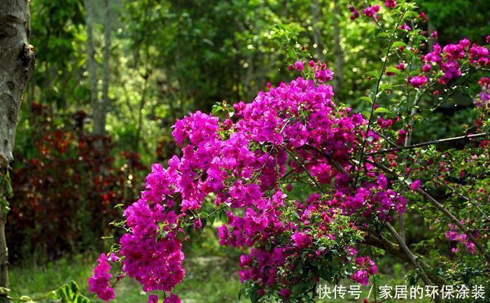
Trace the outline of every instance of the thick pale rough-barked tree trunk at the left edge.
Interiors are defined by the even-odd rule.
[[[5,223],[12,195],[9,163],[13,161],[15,128],[22,93],[34,72],[34,48],[29,45],[29,1],[3,0],[0,4],[0,287],[8,288],[8,249]],[[3,302],[8,301],[4,291]]]

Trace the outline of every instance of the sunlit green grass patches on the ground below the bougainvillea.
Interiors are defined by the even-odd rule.
[[[78,255],[38,264],[22,264],[10,267],[10,288],[13,297],[28,295],[40,297],[68,281],[76,281],[83,295],[92,302],[102,302],[87,292],[87,278],[91,276],[97,257]],[[187,276],[175,293],[183,302],[238,302],[241,288],[238,270],[230,260],[223,257],[195,257],[186,260]],[[117,303],[146,302],[148,294],[141,290],[139,283],[123,279],[116,285]],[[158,292],[155,292],[158,294]],[[245,302],[244,299],[241,302]]]

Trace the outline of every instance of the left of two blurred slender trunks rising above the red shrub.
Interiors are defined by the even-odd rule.
[[[85,24],[87,26],[87,68],[90,81],[90,104],[92,105],[92,122],[94,135],[102,135],[100,127],[99,88],[97,86],[97,64],[94,54],[94,24],[92,16],[92,0],[85,0]]]

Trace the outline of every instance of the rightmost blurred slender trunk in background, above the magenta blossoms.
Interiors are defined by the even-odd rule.
[[[342,11],[339,7],[339,1],[333,1],[333,47],[335,53],[335,77],[333,82],[333,90],[335,95],[339,96],[342,93],[342,84],[344,82],[344,52],[340,46],[340,25],[342,20]]]

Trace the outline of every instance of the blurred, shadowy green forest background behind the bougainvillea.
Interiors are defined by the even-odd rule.
[[[480,42],[490,33],[486,0],[418,3],[440,43]],[[250,102],[268,82],[288,81],[295,53],[327,62],[335,100],[362,112],[367,105],[359,97],[372,89],[363,79],[380,69],[381,46],[367,20],[349,20],[348,4],[31,1],[36,70],[20,112],[6,226],[13,292],[43,292],[69,280],[86,291],[94,252],[120,232],[110,222],[137,199],[151,164],[178,153],[176,119],[222,102]],[[431,137],[415,133],[417,141],[458,135],[470,123],[471,97],[454,100],[435,114],[454,121],[454,129],[436,119],[424,133]],[[414,236],[423,237],[416,224],[407,242]],[[214,229],[185,250],[193,274],[179,286],[184,302],[236,300],[240,285],[230,268],[239,251],[219,248]],[[381,278],[403,278],[402,265],[383,262]],[[142,302],[137,285],[118,287],[125,295],[117,302]]]

